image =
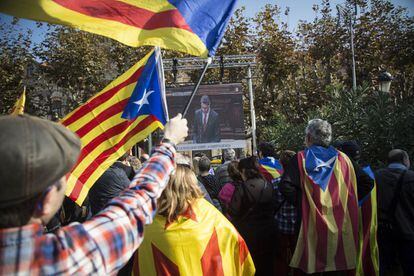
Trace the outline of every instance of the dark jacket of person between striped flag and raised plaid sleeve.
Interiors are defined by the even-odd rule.
[[[101,211],[112,198],[125,190],[134,175],[132,167],[115,162],[95,182],[89,191],[89,202],[92,214]]]

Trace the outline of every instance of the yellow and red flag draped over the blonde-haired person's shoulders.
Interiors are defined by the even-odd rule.
[[[243,238],[205,199],[197,199],[172,223],[156,215],[144,227],[145,239],[134,263],[134,276],[254,275]]]

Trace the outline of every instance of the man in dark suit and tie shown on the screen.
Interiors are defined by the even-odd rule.
[[[217,112],[211,109],[210,98],[201,97],[201,108],[194,114],[193,140],[195,143],[220,142],[220,122]]]

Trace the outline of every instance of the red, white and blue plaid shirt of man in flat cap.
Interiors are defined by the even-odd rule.
[[[43,234],[38,224],[0,229],[0,275],[115,274],[141,244],[144,224],[152,222],[174,154],[167,143],[156,148],[130,188],[83,224],[55,234]]]

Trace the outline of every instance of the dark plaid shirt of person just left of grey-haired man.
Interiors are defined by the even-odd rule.
[[[275,216],[277,222],[277,229],[282,234],[292,235],[296,231],[296,208],[295,206],[287,202],[283,195],[280,193],[278,189],[278,183],[280,182],[280,180],[281,178],[278,178],[276,183],[274,183],[277,204],[278,206],[282,204]]]

